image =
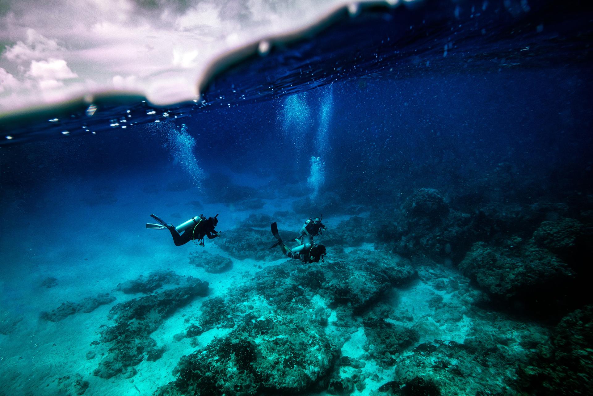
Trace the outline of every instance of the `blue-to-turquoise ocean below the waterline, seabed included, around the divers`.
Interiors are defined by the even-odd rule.
[[[0,120],[0,394],[586,394],[588,6],[350,14],[196,103]]]

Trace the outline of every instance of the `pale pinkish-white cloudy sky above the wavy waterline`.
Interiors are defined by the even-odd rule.
[[[206,65],[343,0],[0,0],[0,113],[93,92],[191,100]]]

